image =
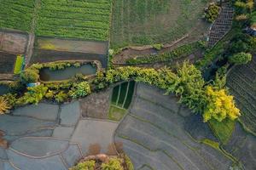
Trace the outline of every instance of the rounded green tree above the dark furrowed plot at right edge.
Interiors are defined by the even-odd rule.
[[[252,60],[252,54],[249,53],[238,53],[234,54],[229,58],[230,63],[236,65],[245,65]]]

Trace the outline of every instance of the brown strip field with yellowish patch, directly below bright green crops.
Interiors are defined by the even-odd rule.
[[[36,48],[50,49],[56,51],[78,52],[87,54],[108,53],[108,42],[78,41],[39,37],[36,40],[36,46]]]

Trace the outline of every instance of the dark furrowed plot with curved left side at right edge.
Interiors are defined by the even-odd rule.
[[[256,56],[247,65],[237,65],[227,79],[230,93],[241,110],[241,122],[256,133]]]

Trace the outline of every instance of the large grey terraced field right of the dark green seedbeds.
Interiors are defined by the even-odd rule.
[[[123,144],[135,169],[229,169],[232,162],[228,157],[192,139],[185,130],[190,116],[187,110],[180,108],[174,96],[162,94],[158,88],[139,83],[131,110],[115,133],[115,142]],[[209,128],[201,131],[197,133],[202,138],[211,133]]]

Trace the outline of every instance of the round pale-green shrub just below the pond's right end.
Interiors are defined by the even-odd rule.
[[[75,83],[69,94],[73,99],[82,98],[90,94],[90,84],[88,82]]]

